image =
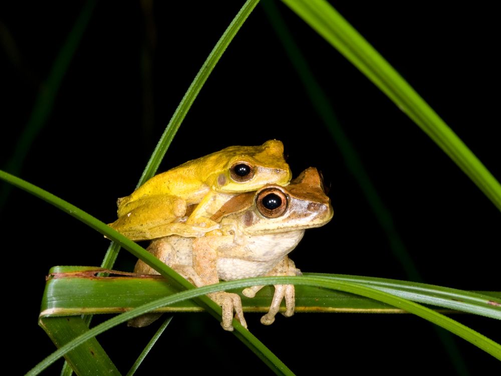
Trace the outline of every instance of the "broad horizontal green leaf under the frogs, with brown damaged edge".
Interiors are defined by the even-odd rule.
[[[105,271],[109,277],[97,277],[99,273],[104,272],[101,268],[52,268],[42,300],[41,316],[120,313],[124,308],[135,308],[178,292],[173,283],[160,276]],[[305,273],[304,276],[358,283],[412,301],[501,319],[501,292],[481,294],[424,283],[338,274]],[[239,290],[232,292],[240,293]],[[255,298],[241,295],[244,311],[267,312],[273,294],[274,288],[266,286]],[[162,312],[201,310],[193,301],[183,301],[159,309]],[[296,311],[394,313],[401,312],[401,309],[342,291],[326,291],[299,285],[296,287]]]

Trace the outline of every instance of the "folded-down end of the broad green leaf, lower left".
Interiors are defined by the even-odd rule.
[[[39,324],[57,347],[63,346],[89,330],[80,316],[45,317],[40,319]],[[96,338],[91,338],[69,351],[65,358],[67,364],[71,365],[70,372],[75,370],[80,375],[120,375],[117,367]]]

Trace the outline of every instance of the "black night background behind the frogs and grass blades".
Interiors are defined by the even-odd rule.
[[[178,3],[155,2],[151,17],[145,17],[147,7],[140,2],[96,6],[20,177],[104,222],[114,220],[116,198],[133,191],[177,104],[243,2]],[[0,165],[18,147],[37,93],[83,4],[2,6]],[[498,24],[488,3],[468,8],[426,1],[398,7],[393,2],[332,4],[499,178]],[[498,291],[498,209],[368,79],[287,7],[277,5],[423,281]],[[146,77],[151,77],[152,100],[145,94]],[[334,219],[307,231],[291,255],[296,265],[308,272],[408,280],[258,6],[209,77],[160,169],[229,145],[272,138],[284,142],[295,175],[316,166],[331,186]],[[8,351],[23,352],[26,360],[16,367],[26,372],[54,350],[37,326],[49,268],[97,266],[108,241],[17,189],[0,221],[4,325],[22,333],[9,336]],[[131,270],[133,263],[122,251],[115,268]],[[280,316],[269,327],[259,323],[259,314],[246,317],[249,329],[300,374],[501,369],[492,356],[456,337],[452,341],[462,363],[454,366],[433,325],[411,315],[296,314]],[[498,321],[454,317],[501,340]],[[125,373],[154,330],[121,326],[99,339]],[[270,373],[206,314],[176,314],[138,374],[167,374],[173,364],[186,372],[212,367],[218,373]],[[47,374],[58,374],[60,366]]]

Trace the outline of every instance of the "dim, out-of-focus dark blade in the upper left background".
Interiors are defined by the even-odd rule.
[[[82,36],[87,28],[95,5],[96,0],[88,0],[85,3],[66,41],[54,60],[49,77],[47,77],[47,80],[39,89],[30,118],[14,148],[14,154],[5,166],[7,171],[15,175],[19,174],[19,171],[21,171],[21,166],[23,165],[33,141],[44,127],[54,108],[54,101],[61,87],[61,82],[82,40]],[[0,187],[0,209],[3,208],[9,197],[10,190],[11,185],[9,184],[2,184]]]

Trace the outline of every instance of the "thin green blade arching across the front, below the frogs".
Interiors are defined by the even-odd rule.
[[[37,374],[38,372],[42,371],[45,369],[47,366],[52,364],[55,360],[57,360],[59,357],[61,357],[64,353],[67,351],[72,350],[76,346],[80,345],[81,343],[85,342],[86,340],[102,333],[103,331],[106,331],[110,329],[113,326],[116,326],[122,322],[125,322],[133,317],[137,317],[143,313],[146,313],[152,309],[159,308],[163,305],[167,304],[172,304],[184,299],[191,299],[194,297],[201,297],[201,295],[210,293],[210,292],[215,292],[215,291],[222,291],[222,290],[227,290],[227,289],[232,289],[232,288],[242,288],[242,287],[248,287],[248,286],[255,286],[255,285],[270,285],[270,284],[295,284],[295,285],[311,285],[311,286],[317,286],[317,287],[323,287],[323,288],[328,288],[328,289],[336,289],[336,290],[341,290],[341,291],[346,291],[350,292],[353,294],[359,294],[362,296],[366,296],[368,298],[376,299],[376,300],[381,300],[385,303],[391,304],[395,307],[405,309],[406,311],[409,311],[411,313],[414,313],[430,322],[433,322],[434,324],[437,324],[449,331],[451,331],[454,334],[457,334],[461,338],[466,339],[467,341],[473,343],[474,345],[478,346],[482,350],[486,351],[487,353],[491,354],[492,356],[496,357],[497,359],[501,360],[501,345],[498,343],[492,341],[491,339],[483,336],[480,333],[477,333],[476,331],[468,328],[467,326],[464,326],[460,324],[459,322],[452,320],[440,313],[437,313],[429,308],[426,308],[424,306],[421,306],[417,303],[411,302],[409,300],[393,296],[391,294],[388,294],[386,292],[378,291],[370,287],[366,287],[357,283],[350,283],[350,282],[342,282],[342,281],[333,281],[331,279],[325,278],[325,277],[259,277],[259,278],[249,278],[249,279],[241,279],[241,280],[236,280],[236,281],[229,281],[229,282],[221,282],[215,285],[209,285],[209,286],[203,286],[195,289],[191,289],[188,291],[182,291],[177,294],[171,295],[169,297],[164,297],[158,300],[155,300],[153,302],[147,303],[142,305],[141,307],[135,308],[131,311],[122,313],[118,316],[115,316],[106,322],[103,322],[102,324],[97,325],[96,327],[89,329],[88,332],[85,334],[79,336],[78,338],[75,338],[73,341],[65,344],[64,346],[60,347],[58,350],[53,352],[51,355],[49,355],[47,358],[45,358],[43,361],[41,361],[39,364],[37,364],[30,372],[27,374],[29,375],[34,375]],[[239,330],[241,325],[236,322],[236,320],[233,320],[233,325],[235,327],[235,330],[237,330],[237,336],[243,336],[248,340],[254,340],[255,337],[252,336],[247,330]],[[258,347],[256,347],[258,348]],[[266,348],[266,347],[265,347]],[[267,358],[268,359],[268,358]],[[285,365],[284,365],[285,366]],[[274,371],[279,371],[279,374],[292,374],[292,372],[287,368],[283,369],[276,369],[272,368]]]

